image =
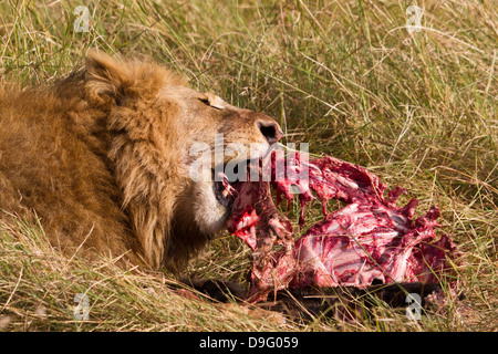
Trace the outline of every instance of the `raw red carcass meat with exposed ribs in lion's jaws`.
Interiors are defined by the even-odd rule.
[[[436,237],[437,207],[413,220],[416,199],[396,206],[406,192],[403,188],[385,198],[386,186],[377,176],[329,156],[310,160],[307,154],[292,153],[284,158],[282,150],[274,150],[269,166],[271,183],[238,184],[227,221],[228,230],[253,250],[248,301],[263,301],[288,287],[435,283],[448,268],[446,257],[453,256],[455,244],[446,235]],[[322,202],[324,219],[294,242],[289,220],[273,204],[270,185],[277,205],[282,199],[290,205],[299,195],[301,227],[313,192]],[[345,206],[329,214],[330,199]]]

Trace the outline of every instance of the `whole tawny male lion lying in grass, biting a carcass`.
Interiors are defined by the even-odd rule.
[[[0,86],[0,218],[37,215],[64,251],[185,266],[230,208],[211,169],[191,178],[191,147],[214,152],[222,134],[257,146],[239,159],[259,158],[281,137],[269,116],[186,84],[155,63],[91,53],[50,86]]]

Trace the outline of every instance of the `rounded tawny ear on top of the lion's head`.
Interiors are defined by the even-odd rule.
[[[120,104],[126,95],[126,87],[131,85],[129,72],[126,64],[107,54],[91,52],[86,59],[86,86],[95,95],[108,96]]]

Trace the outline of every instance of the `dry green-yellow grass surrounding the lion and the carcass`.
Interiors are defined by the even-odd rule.
[[[39,226],[0,233],[0,330],[39,331],[496,331],[498,8],[494,1],[79,1],[0,3],[0,76],[25,85],[64,75],[89,49],[142,53],[194,87],[274,116],[288,142],[366,166],[390,187],[438,205],[458,244],[461,302],[407,321],[383,304],[369,321],[276,324],[241,306],[186,300],[168,274],[69,261]],[[407,199],[401,200],[401,202]],[[309,223],[319,208],[310,210]],[[243,280],[248,250],[222,236],[189,271]],[[76,293],[91,319],[75,321]]]

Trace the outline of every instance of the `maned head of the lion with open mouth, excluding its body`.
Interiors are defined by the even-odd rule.
[[[279,125],[151,62],[93,53],[85,73],[87,95],[110,107],[108,157],[145,259],[184,263],[224,228],[229,183],[280,139]]]

